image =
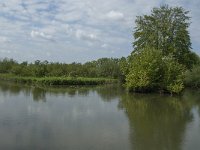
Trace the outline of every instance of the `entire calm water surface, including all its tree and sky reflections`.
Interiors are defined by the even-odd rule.
[[[200,91],[171,97],[0,82],[0,150],[199,149]]]

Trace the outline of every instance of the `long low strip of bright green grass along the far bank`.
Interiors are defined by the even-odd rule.
[[[40,85],[102,85],[117,83],[116,79],[85,77],[20,77],[11,74],[0,74],[0,80],[23,84]]]

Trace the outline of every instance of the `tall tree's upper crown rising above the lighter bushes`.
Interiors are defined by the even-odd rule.
[[[138,16],[133,34],[133,53],[147,46],[152,47],[161,50],[164,56],[172,55],[179,63],[191,68],[191,62],[188,62],[188,57],[192,55],[188,13],[182,7],[164,5],[153,8],[151,15]]]

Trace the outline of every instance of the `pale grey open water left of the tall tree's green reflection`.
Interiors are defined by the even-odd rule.
[[[116,99],[102,100],[102,91],[0,84],[0,149],[130,149],[127,118]]]

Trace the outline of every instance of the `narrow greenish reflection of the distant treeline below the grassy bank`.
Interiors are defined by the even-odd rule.
[[[106,85],[106,86],[82,86],[82,87],[38,87],[38,86],[25,86],[11,82],[0,82],[0,90],[4,93],[11,95],[19,95],[21,92],[26,96],[32,95],[34,101],[46,102],[46,95],[68,95],[74,97],[88,96],[90,92],[96,92],[104,101],[110,101],[118,98],[122,93],[122,88],[119,85]]]

